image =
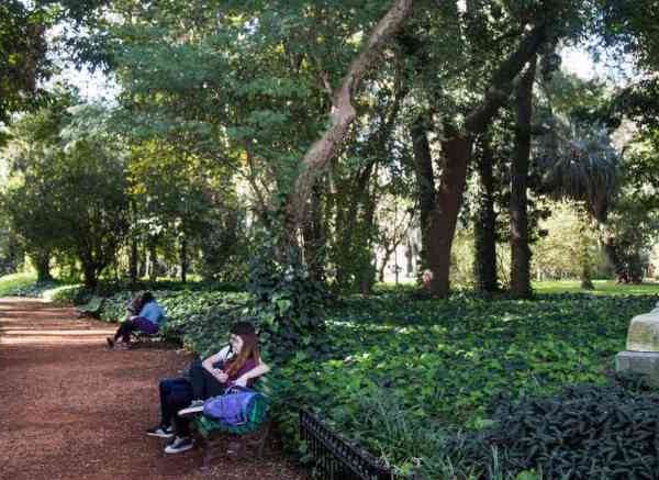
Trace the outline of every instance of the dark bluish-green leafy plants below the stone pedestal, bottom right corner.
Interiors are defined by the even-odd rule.
[[[555,398],[502,402],[495,426],[460,445],[466,459],[500,451],[507,472],[537,469],[545,478],[652,478],[659,467],[659,395],[617,384],[574,386]],[[480,459],[479,459],[480,457]]]

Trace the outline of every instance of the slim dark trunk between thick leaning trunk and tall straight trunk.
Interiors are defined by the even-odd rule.
[[[496,213],[494,212],[493,152],[485,134],[478,161],[478,213],[474,222],[476,288],[481,292],[499,290],[496,278]]]

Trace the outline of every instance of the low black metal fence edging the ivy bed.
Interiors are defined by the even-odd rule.
[[[323,480],[393,480],[393,473],[375,457],[350,445],[316,416],[300,411],[300,436],[314,459],[316,478]]]

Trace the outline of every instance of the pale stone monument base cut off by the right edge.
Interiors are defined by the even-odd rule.
[[[615,371],[640,373],[659,387],[659,302],[651,312],[632,319],[627,350],[615,356]]]

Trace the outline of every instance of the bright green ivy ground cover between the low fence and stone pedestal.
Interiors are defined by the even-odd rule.
[[[656,301],[350,300],[333,310],[316,351],[280,366],[275,383],[278,397],[312,409],[401,471],[424,461],[437,468],[436,458],[423,458],[437,455],[428,446],[457,428],[489,426],[498,398],[603,384],[629,320]],[[292,416],[286,424],[292,436]]]

